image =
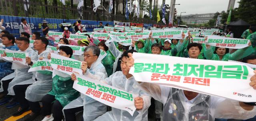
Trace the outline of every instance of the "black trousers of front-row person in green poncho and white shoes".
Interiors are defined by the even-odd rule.
[[[54,101],[53,105],[52,102]],[[55,99],[54,95],[47,94],[42,98],[42,114],[44,116],[50,115],[53,112],[54,121],[62,120],[62,105]],[[51,108],[52,107],[52,108]],[[52,110],[53,109],[53,110]]]

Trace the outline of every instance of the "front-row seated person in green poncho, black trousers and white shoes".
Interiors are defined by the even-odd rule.
[[[73,50],[68,46],[60,46],[61,56],[71,58]],[[48,59],[51,59],[50,54]],[[45,116],[43,121],[61,121],[62,109],[65,105],[80,96],[79,91],[73,88],[71,76],[58,70],[53,70],[52,90],[42,98],[42,113]],[[53,103],[53,108],[52,107]],[[54,117],[52,116],[52,110]]]

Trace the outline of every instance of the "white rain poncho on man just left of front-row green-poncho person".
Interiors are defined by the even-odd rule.
[[[36,52],[36,54],[38,54],[38,52]],[[45,50],[38,55],[38,58],[47,58],[48,54],[49,51]],[[36,63],[36,61],[33,61],[33,63]],[[37,81],[29,85],[25,93],[25,98],[32,102],[41,101],[44,95],[52,89],[51,71],[35,71],[35,73]]]

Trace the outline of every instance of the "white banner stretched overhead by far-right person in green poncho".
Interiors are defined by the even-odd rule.
[[[221,48],[240,49],[248,47],[250,40],[238,38],[225,38],[222,36],[208,36],[205,44]]]

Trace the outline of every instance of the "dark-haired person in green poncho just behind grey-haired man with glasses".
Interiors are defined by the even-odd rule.
[[[108,77],[109,77],[110,75],[112,75],[113,63],[114,63],[116,58],[108,50],[108,46],[106,46],[104,41],[101,41],[99,43],[99,48],[107,53],[105,58],[102,59],[102,64],[104,65],[104,67],[105,67],[105,69],[107,71]]]

